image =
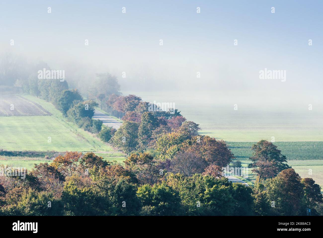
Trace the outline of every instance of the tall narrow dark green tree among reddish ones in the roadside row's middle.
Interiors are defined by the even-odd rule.
[[[158,120],[151,112],[144,112],[141,115],[141,123],[138,130],[138,148],[145,150],[150,141],[152,131],[159,126]]]

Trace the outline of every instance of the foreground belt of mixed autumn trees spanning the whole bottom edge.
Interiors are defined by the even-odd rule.
[[[305,215],[322,214],[320,187],[291,168],[246,187],[225,177],[173,173],[148,153],[124,165],[67,152],[26,178],[0,177],[0,215]]]

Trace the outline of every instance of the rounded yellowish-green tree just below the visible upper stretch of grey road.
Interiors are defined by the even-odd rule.
[[[136,150],[138,145],[138,128],[139,125],[135,122],[123,122],[111,138],[112,145],[120,148],[124,153]]]

